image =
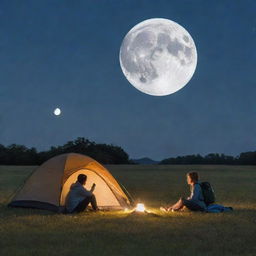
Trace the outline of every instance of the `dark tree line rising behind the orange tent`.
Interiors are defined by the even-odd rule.
[[[131,163],[129,155],[121,147],[77,138],[63,146],[51,147],[42,152],[23,145],[12,144],[5,147],[0,144],[0,165],[40,165],[56,155],[71,152],[90,156],[102,164]]]

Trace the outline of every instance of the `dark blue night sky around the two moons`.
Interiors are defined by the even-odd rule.
[[[0,144],[85,137],[154,159],[256,150],[255,14],[254,0],[2,0]],[[169,96],[136,90],[119,65],[123,37],[149,18],[197,46],[192,80]]]

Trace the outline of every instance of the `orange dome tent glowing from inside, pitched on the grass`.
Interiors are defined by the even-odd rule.
[[[53,157],[38,167],[9,206],[61,212],[70,185],[81,173],[87,176],[87,189],[96,184],[94,194],[100,209],[123,209],[131,205],[118,182],[101,164],[88,156],[68,153]]]

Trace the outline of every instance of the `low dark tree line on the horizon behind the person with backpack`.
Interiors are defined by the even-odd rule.
[[[227,165],[256,165],[256,151],[244,152],[237,157],[224,154],[187,155],[171,157],[159,164],[227,164]]]

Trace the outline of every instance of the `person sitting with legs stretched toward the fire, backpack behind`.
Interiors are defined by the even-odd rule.
[[[190,185],[191,194],[190,196],[185,198],[180,198],[180,200],[172,205],[167,207],[160,207],[162,211],[179,211],[184,207],[188,208],[191,211],[206,211],[207,207],[204,202],[204,197],[202,193],[201,186],[198,181],[198,173],[197,172],[189,172],[187,174],[187,183]]]

